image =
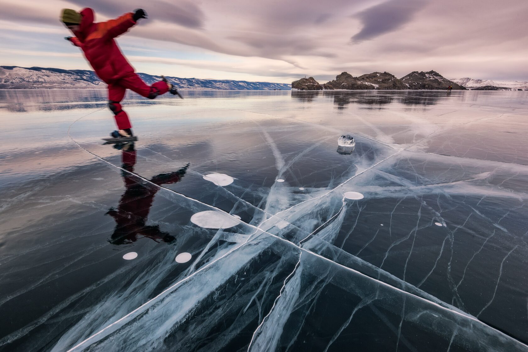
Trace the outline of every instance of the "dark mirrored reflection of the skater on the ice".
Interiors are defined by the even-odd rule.
[[[141,237],[149,237],[156,242],[172,242],[174,236],[159,230],[159,225],[146,225],[150,206],[159,187],[146,183],[134,174],[136,165],[136,151],[133,143],[122,147],[122,176],[126,191],[121,196],[117,210],[110,208],[107,212],[117,223],[116,229],[109,240],[113,244],[125,244],[137,241]],[[181,169],[167,174],[159,174],[150,179],[156,185],[178,182],[187,170],[188,164]]]

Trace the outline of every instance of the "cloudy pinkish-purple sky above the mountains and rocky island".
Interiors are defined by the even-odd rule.
[[[144,8],[118,37],[136,71],[184,78],[320,82],[347,71],[398,78],[528,81],[526,0],[0,0],[0,65],[88,69],[59,22],[92,7],[96,21]]]

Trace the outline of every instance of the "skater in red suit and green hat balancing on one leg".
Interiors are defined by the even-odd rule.
[[[166,92],[180,96],[174,85],[163,76],[161,81],[150,86],[143,82],[119,50],[114,38],[128,31],[140,18],[147,18],[146,12],[141,8],[115,20],[99,23],[93,22],[91,8],[84,8],[80,13],[65,8],[61,13],[61,21],[75,35],[64,39],[82,49],[93,70],[108,84],[108,107],[114,113],[118,129],[111,132],[110,136],[116,138],[117,142],[121,138],[133,136],[130,120],[121,107],[121,100],[127,89],[149,99]]]

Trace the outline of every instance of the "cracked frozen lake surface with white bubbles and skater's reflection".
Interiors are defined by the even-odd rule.
[[[0,91],[0,351],[528,351],[527,93]]]

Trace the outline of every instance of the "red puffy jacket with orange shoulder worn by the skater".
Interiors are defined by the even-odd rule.
[[[115,37],[136,24],[132,18],[133,13],[129,12],[116,20],[100,23],[93,23],[91,8],[83,9],[81,15],[80,29],[73,33],[76,37],[70,40],[82,49],[99,78],[109,84],[134,72],[134,68],[114,41]]]

